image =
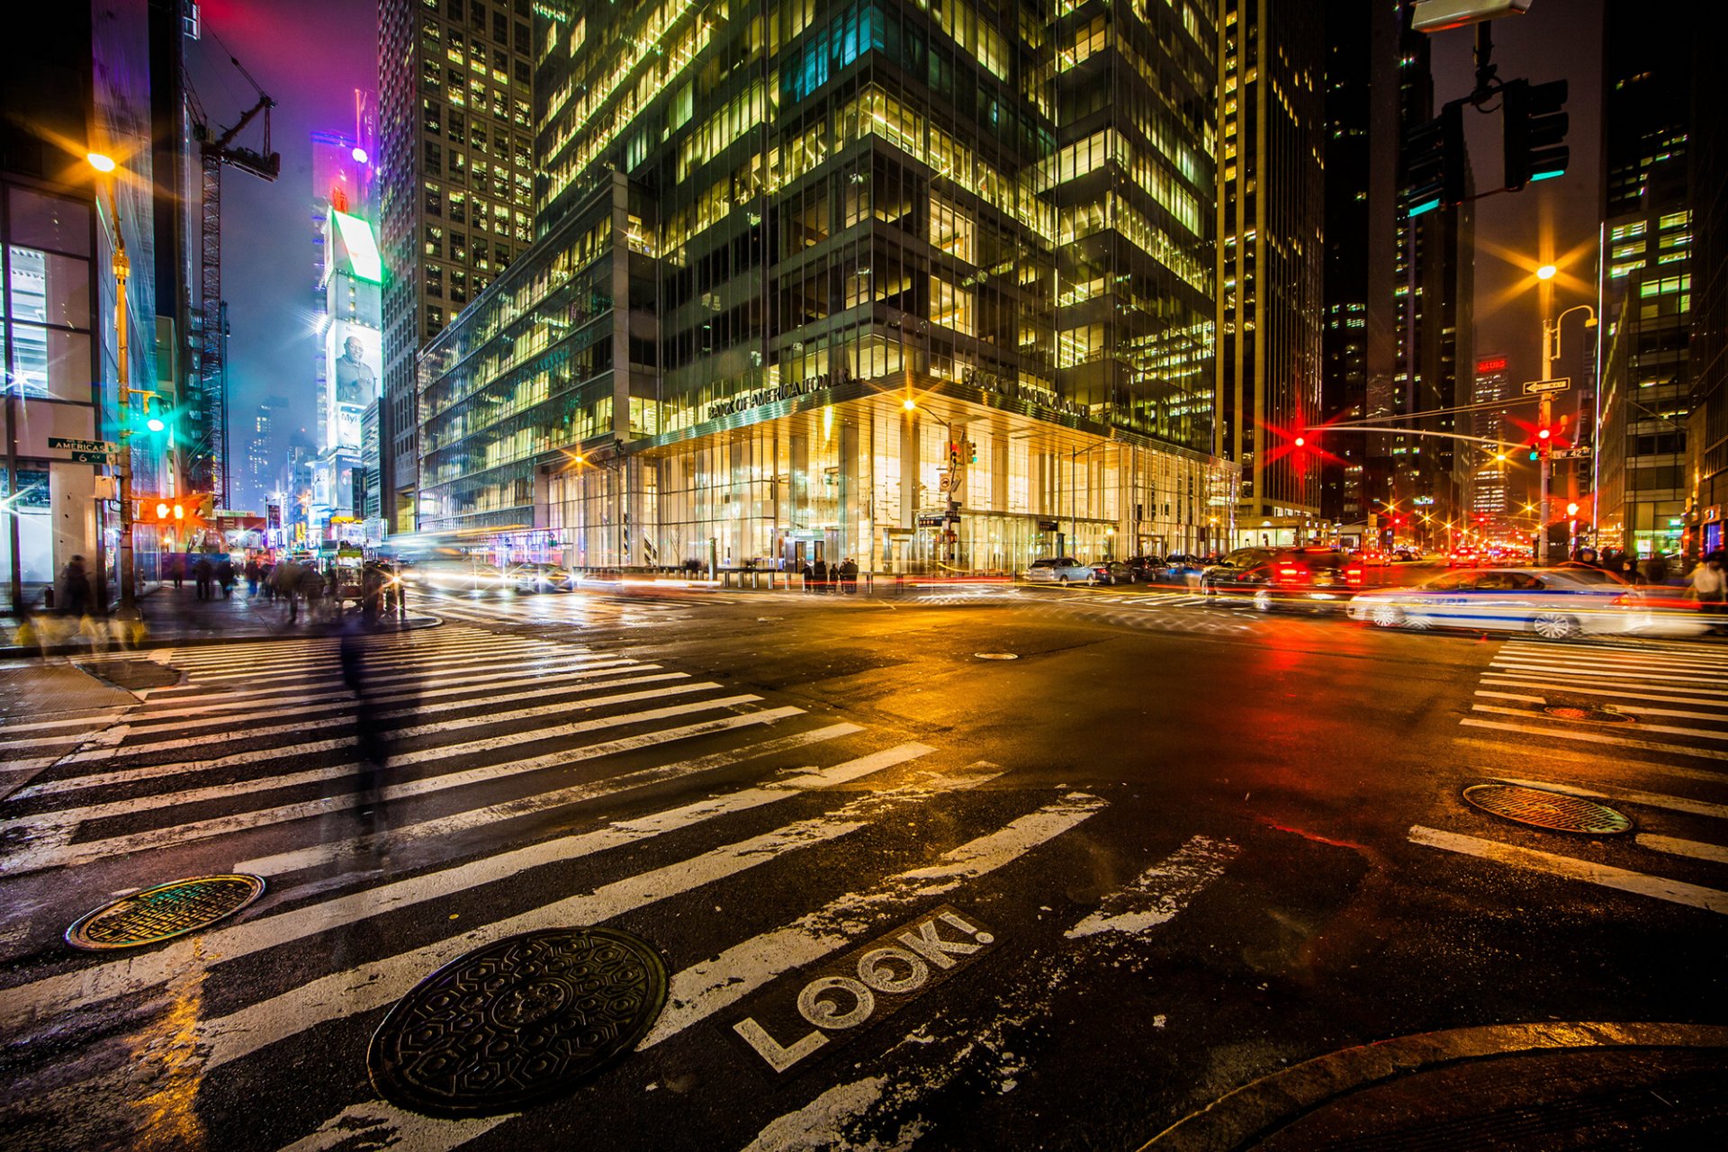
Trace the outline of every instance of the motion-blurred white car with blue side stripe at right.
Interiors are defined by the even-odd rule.
[[[1657,610],[1642,591],[1586,565],[1453,568],[1415,587],[1379,587],[1350,599],[1346,615],[1382,629],[1472,629],[1574,636],[1702,636],[1711,620]]]

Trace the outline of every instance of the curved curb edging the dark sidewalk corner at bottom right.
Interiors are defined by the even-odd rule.
[[[1491,1024],[1343,1048],[1229,1092],[1163,1130],[1142,1152],[1248,1149],[1331,1100],[1446,1064],[1590,1048],[1728,1048],[1728,1026],[1607,1021]]]

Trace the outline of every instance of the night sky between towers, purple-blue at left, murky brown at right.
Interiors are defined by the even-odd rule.
[[[354,88],[377,88],[377,0],[206,0],[202,10],[206,28],[276,98],[273,143],[282,152],[276,183],[233,171],[225,183],[223,287],[233,330],[232,425],[238,453],[240,430],[270,394],[294,399],[306,413],[304,423],[313,421],[309,136],[314,130],[353,131]],[[1602,0],[1536,0],[1528,16],[1495,21],[1502,79],[1571,83],[1567,174],[1476,206],[1476,352],[1505,354],[1514,380],[1541,373],[1541,311],[1531,275],[1536,264],[1562,266],[1555,280],[1560,307],[1595,299],[1600,29]],[[1434,38],[1436,102],[1471,90],[1472,45],[1467,29]],[[192,45],[190,57],[204,107],[218,123],[233,123],[251,107],[251,88],[213,36]],[[1467,112],[1467,123],[1477,185],[1498,183],[1500,117]],[[245,143],[256,147],[256,136]],[[1585,375],[1581,337],[1581,326],[1567,325],[1559,375]]]

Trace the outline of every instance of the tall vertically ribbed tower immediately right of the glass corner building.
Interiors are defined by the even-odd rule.
[[[1220,9],[1217,444],[1242,466],[1239,544],[1301,542],[1320,513],[1324,26],[1293,0]]]

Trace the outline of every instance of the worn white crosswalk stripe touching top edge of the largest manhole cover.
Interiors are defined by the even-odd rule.
[[[484,943],[560,924],[603,924],[667,896],[677,896],[778,860],[788,851],[848,836],[869,827],[869,817],[885,808],[921,803],[945,789],[947,786],[938,775],[921,784],[883,793],[862,793],[857,800],[829,813],[785,824],[771,832],[722,845],[688,860],[601,884],[591,893],[567,896],[460,936],[313,979],[228,1016],[204,1021],[197,1029],[199,1045],[209,1045],[204,1071],[214,1071],[318,1024],[384,1007],[437,967]]]

